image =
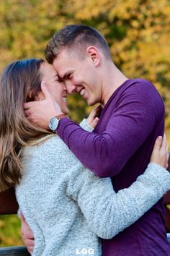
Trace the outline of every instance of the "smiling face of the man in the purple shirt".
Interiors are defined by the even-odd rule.
[[[64,49],[54,59],[53,67],[65,82],[69,94],[80,93],[90,106],[101,101],[102,82],[88,54],[80,58],[77,53]]]

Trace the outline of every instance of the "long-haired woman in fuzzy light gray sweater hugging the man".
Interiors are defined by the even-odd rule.
[[[99,237],[110,239],[130,226],[170,188],[169,173],[156,164],[166,167],[167,157],[155,148],[155,163],[116,194],[110,179],[92,174],[57,135],[24,116],[25,101],[43,100],[42,80],[68,114],[64,85],[44,61],[14,62],[1,76],[0,189],[16,185],[19,207],[35,236],[32,255],[102,255]],[[86,121],[81,125],[91,132]],[[167,155],[165,149],[163,142]]]

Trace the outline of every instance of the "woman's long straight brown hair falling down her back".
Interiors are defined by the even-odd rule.
[[[42,59],[15,61],[4,69],[0,81],[0,191],[19,184],[22,147],[45,133],[24,116],[23,103],[40,91]],[[32,97],[28,95],[32,93]]]

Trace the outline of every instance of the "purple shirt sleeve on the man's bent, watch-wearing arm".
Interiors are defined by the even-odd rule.
[[[100,177],[118,174],[164,114],[156,90],[136,85],[120,95],[102,135],[86,132],[69,119],[62,119],[58,135],[87,168]],[[106,113],[107,114],[107,113]]]

